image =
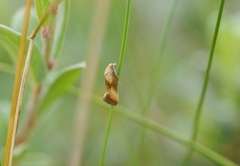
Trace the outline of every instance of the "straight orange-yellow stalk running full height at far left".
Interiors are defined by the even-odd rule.
[[[4,166],[12,165],[13,149],[14,149],[15,137],[16,137],[17,126],[18,126],[18,118],[19,118],[19,112],[17,112],[16,109],[19,101],[21,73],[23,68],[24,53],[25,53],[25,47],[26,47],[26,41],[27,41],[27,31],[28,31],[29,17],[30,17],[30,11],[31,11],[31,4],[32,4],[32,0],[27,0],[23,29],[22,29],[22,36],[21,36],[21,42],[20,42],[20,48],[19,48],[18,62],[16,67],[16,76],[15,76],[14,88],[13,88],[11,114],[9,119],[8,134],[7,134],[6,148],[5,148],[5,154],[4,154]]]

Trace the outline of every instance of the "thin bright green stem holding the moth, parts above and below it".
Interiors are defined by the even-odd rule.
[[[120,51],[119,62],[118,62],[118,71],[117,71],[118,81],[119,81],[119,78],[120,78],[120,75],[121,75],[123,60],[124,60],[125,51],[126,51],[129,21],[130,21],[130,11],[131,11],[131,0],[127,0],[124,30],[123,30],[123,37],[122,37],[122,45],[121,45],[121,51]],[[100,160],[100,166],[104,166],[104,163],[105,163],[105,154],[106,154],[108,137],[109,137],[110,128],[111,128],[113,112],[114,112],[114,107],[111,106],[110,107],[110,114],[109,114],[109,117],[108,117],[108,123],[107,123],[107,131],[106,131],[106,134],[105,134],[105,139],[104,139],[104,144],[103,144],[102,156],[101,156],[101,160]]]

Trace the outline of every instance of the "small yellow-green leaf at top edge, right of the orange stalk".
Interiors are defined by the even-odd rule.
[[[49,0],[35,0],[35,8],[39,20],[42,18],[45,11],[48,10],[49,5],[50,5]],[[45,21],[42,26],[44,27],[47,24],[48,22]]]

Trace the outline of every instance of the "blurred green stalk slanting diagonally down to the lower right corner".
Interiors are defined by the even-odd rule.
[[[75,87],[72,87],[69,90],[69,92],[71,94],[77,95],[82,98],[86,97],[85,95],[82,95],[82,93],[79,93],[79,89],[75,88]],[[81,96],[79,94],[81,94]],[[102,102],[101,97],[99,97],[97,95],[92,95],[91,99],[97,105],[99,105],[103,108],[108,108],[108,105],[106,105],[105,103]],[[104,110],[108,110],[108,109],[104,109]],[[195,142],[192,142],[191,140],[187,140],[187,139],[183,138],[182,136],[180,136],[178,133],[176,133],[176,131],[173,131],[173,130],[171,130],[171,129],[169,129],[147,117],[144,117],[142,115],[134,113],[134,111],[129,110],[121,105],[118,105],[118,107],[116,107],[114,109],[114,113],[121,115],[125,118],[128,118],[132,122],[135,122],[138,125],[144,126],[147,129],[153,130],[156,133],[162,134],[165,137],[169,138],[170,140],[175,141],[185,147],[193,148],[196,152],[205,156],[206,158],[215,162],[218,165],[237,166],[237,164],[235,164],[234,162],[225,158],[224,156],[221,156],[220,154],[214,152],[213,150],[211,150],[199,143],[195,143]]]

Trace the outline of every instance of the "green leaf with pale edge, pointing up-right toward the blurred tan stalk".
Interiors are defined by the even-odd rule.
[[[54,79],[51,81],[52,83],[43,97],[38,113],[44,111],[51,103],[66,92],[77,78],[79,78],[83,68],[85,68],[85,62],[69,66],[54,76],[50,75],[49,78]]]

